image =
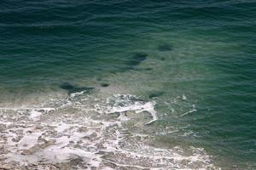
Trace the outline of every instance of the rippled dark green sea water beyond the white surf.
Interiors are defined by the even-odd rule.
[[[255,26],[247,0],[3,0],[0,105],[84,89],[134,94],[156,101],[158,120],[144,127],[154,145],[255,169]]]

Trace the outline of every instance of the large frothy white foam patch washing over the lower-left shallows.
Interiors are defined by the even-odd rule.
[[[158,120],[155,101],[130,94],[77,97],[56,101],[55,107],[1,110],[0,167],[215,169],[204,150],[149,144],[154,136],[143,131]]]

